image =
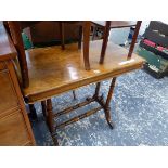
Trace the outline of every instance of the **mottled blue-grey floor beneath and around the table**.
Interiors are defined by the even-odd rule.
[[[109,80],[102,83],[104,95]],[[78,100],[91,95],[95,86],[90,85],[76,91]],[[76,103],[72,92],[53,99],[54,111]],[[94,106],[92,104],[91,106]],[[88,106],[87,108],[91,108]],[[135,70],[117,78],[114,99],[111,102],[112,130],[104,112],[85,118],[64,129],[57,130],[57,140],[62,146],[137,146],[168,145],[168,77],[155,79],[143,70]],[[33,121],[37,145],[53,145],[52,139],[36,104],[38,121]],[[86,111],[81,108],[78,113]],[[76,114],[77,112],[75,112]],[[56,120],[60,122],[65,118]]]

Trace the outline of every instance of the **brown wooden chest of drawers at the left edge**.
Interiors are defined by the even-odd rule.
[[[13,65],[16,53],[9,36],[4,35],[0,26],[0,145],[35,145]]]

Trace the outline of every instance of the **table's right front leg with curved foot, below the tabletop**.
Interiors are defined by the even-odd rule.
[[[112,95],[113,95],[113,92],[114,92],[115,82],[116,82],[116,77],[114,77],[112,79],[109,91],[108,91],[108,95],[107,95],[106,103],[105,103],[105,108],[104,108],[105,109],[104,112],[105,112],[105,117],[106,117],[107,124],[109,125],[109,127],[112,129],[114,128],[114,124],[111,120],[109,103],[111,103],[111,99],[112,99]]]

